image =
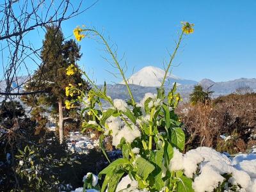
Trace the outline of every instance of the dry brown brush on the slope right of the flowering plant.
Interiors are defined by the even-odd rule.
[[[208,105],[182,104],[177,113],[186,131],[186,150],[202,145],[221,151],[233,146],[234,152],[243,152],[252,143],[250,134],[256,132],[256,93],[218,97]],[[220,135],[234,135],[234,131],[237,140],[224,145]]]

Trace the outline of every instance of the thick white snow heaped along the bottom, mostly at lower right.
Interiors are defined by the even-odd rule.
[[[175,149],[169,169],[184,170],[187,177],[194,177],[193,189],[195,192],[212,192],[220,182],[225,180],[224,173],[231,174],[228,183],[241,187],[237,190],[256,192],[256,147],[253,147],[248,154],[241,153],[236,156],[229,156],[227,153],[221,154],[209,147],[198,147],[189,150],[186,154]],[[196,175],[198,170],[199,173]],[[137,188],[138,182],[131,180],[127,175],[120,180],[116,191],[140,191]],[[230,191],[228,186],[225,188],[225,192]],[[83,191],[83,188],[77,188],[75,191]],[[145,190],[142,191],[145,192]]]

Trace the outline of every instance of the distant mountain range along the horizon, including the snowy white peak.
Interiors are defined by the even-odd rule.
[[[128,82],[131,86],[132,93],[134,94],[134,99],[136,101],[140,101],[145,93],[156,93],[156,88],[157,86],[161,85],[163,76],[164,70],[152,66],[144,67],[132,75],[128,79]],[[166,92],[172,88],[174,82],[177,82],[179,85],[177,86],[177,92],[182,95],[184,100],[188,100],[189,94],[193,91],[195,84],[201,84],[204,88],[209,88],[211,86],[210,90],[214,92],[212,94],[213,97],[234,93],[236,92],[237,88],[241,88],[243,86],[249,86],[253,92],[256,92],[255,78],[240,78],[225,82],[214,82],[211,79],[202,79],[202,81],[196,82],[193,80],[181,79],[180,77],[168,74],[167,79],[168,81],[164,83]],[[17,86],[22,84],[23,81],[28,80],[28,76],[20,76],[17,78],[17,80],[18,83],[12,83],[12,92],[17,92]],[[99,87],[101,86],[102,85],[99,85]],[[20,86],[19,92],[22,92],[23,87],[24,85]],[[5,92],[5,88],[5,81],[0,81],[0,92]],[[108,84],[107,93],[112,99],[129,99],[129,93],[126,90],[124,82],[121,82],[120,84]]]

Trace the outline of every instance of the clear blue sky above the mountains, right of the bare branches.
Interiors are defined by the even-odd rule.
[[[88,6],[93,1],[84,1]],[[104,29],[104,35],[125,52],[127,76],[140,68],[162,67],[173,51],[180,21],[195,24],[195,33],[186,36],[177,52],[173,74],[184,79],[228,81],[256,76],[256,1],[124,1],[99,0],[83,15],[63,23],[65,36],[85,24]],[[102,59],[102,46],[84,39],[79,65],[90,71],[97,83],[119,82],[106,70],[113,68]],[[115,71],[115,70],[114,70]]]

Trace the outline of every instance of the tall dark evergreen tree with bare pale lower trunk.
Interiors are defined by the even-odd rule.
[[[77,68],[76,61],[81,58],[80,46],[74,40],[64,42],[63,33],[58,27],[47,26],[47,32],[41,51],[42,65],[36,70],[33,81],[26,84],[26,91],[44,90],[36,96],[29,95],[22,98],[26,104],[33,109],[31,115],[38,123],[39,129],[44,129],[49,113],[58,120],[60,143],[63,142],[63,124],[65,120],[72,122],[78,119],[77,108],[65,110],[65,87],[68,84],[84,84],[84,88],[89,89],[81,73],[77,72],[73,76],[67,76],[66,68],[73,64]]]

